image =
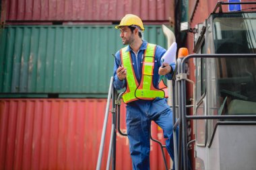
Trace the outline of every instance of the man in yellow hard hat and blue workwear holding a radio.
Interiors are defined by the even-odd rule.
[[[127,14],[119,26],[125,48],[115,56],[114,87],[123,89],[123,101],[127,103],[127,134],[133,169],[150,169],[150,126],[153,120],[164,130],[166,148],[172,160],[172,110],[166,103],[164,91],[158,89],[160,75],[171,79],[175,63],[161,62],[166,50],[141,39],[144,31],[139,17]]]

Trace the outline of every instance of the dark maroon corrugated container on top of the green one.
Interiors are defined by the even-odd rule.
[[[168,21],[168,0],[2,0],[7,21],[120,21],[126,13],[144,21]]]

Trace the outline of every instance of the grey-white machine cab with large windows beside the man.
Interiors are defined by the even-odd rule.
[[[215,10],[185,30],[194,33],[193,169],[256,169],[256,12]]]

